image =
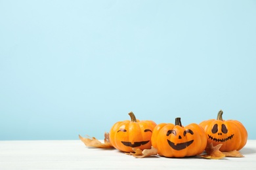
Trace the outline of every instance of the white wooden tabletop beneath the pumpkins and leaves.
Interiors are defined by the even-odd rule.
[[[0,141],[0,169],[256,169],[256,140],[244,158],[134,158],[116,149],[88,148],[75,141]]]

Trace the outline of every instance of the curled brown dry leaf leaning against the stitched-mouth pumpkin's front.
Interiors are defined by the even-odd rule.
[[[213,146],[213,143],[209,144],[205,148],[206,154],[200,155],[202,158],[207,158],[207,159],[213,159],[213,160],[219,160],[221,158],[224,158],[225,155],[223,152],[219,150],[223,144],[217,144],[216,146]]]

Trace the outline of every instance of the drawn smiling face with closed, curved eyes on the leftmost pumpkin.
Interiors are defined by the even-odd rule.
[[[128,133],[126,129],[123,129],[123,128],[120,128],[117,133]],[[130,132],[131,133],[131,132]],[[144,129],[144,133],[146,135],[146,133],[152,133],[152,130],[150,129]],[[122,135],[129,135],[129,134],[122,134]],[[137,133],[133,133],[133,139],[135,138],[138,138],[138,135],[140,134],[137,134]],[[146,141],[135,141],[135,142],[131,142],[131,141],[121,141],[121,143],[125,146],[129,146],[129,147],[132,147],[132,148],[135,148],[135,147],[139,147],[139,146],[142,146],[144,144],[147,144],[150,142],[150,138]]]

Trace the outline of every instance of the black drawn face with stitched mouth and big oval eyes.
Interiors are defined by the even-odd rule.
[[[234,133],[228,134],[228,128],[223,123],[214,124],[211,128],[211,133],[208,133],[208,138],[215,142],[224,143],[234,137]]]

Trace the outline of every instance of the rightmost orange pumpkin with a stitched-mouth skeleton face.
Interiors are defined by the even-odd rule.
[[[207,144],[223,144],[221,151],[240,150],[247,142],[247,131],[237,120],[223,120],[223,110],[220,110],[217,120],[205,120],[200,123],[207,135]]]

